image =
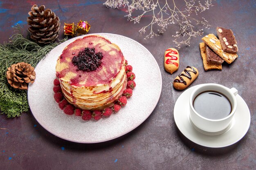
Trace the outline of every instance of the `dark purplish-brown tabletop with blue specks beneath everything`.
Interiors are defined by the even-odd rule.
[[[59,38],[63,38],[63,25],[87,20],[89,33],[124,35],[144,45],[153,54],[162,73],[162,94],[153,113],[138,128],[117,139],[99,144],[78,144],[60,139],[38,124],[33,115],[23,113],[8,119],[0,115],[0,169],[7,170],[63,170],[63,169],[255,169],[256,167],[256,115],[255,115],[255,39],[256,4],[253,0],[216,0],[213,7],[199,13],[212,25],[204,35],[214,33],[216,27],[232,29],[238,41],[238,58],[223,64],[222,71],[204,71],[199,43],[203,36],[193,38],[191,46],[180,52],[180,68],[170,75],[164,71],[164,51],[175,47],[172,42],[177,25],[166,33],[144,40],[139,29],[150,22],[144,17],[133,24],[124,17],[124,9],[107,9],[99,0],[24,0],[0,1],[0,43],[8,41],[17,23],[25,30],[26,19],[33,4],[45,4],[61,20]],[[177,1],[179,5],[182,1]],[[173,79],[186,66],[195,66],[200,73],[191,84],[217,83],[238,89],[251,113],[250,128],[238,143],[226,148],[205,148],[190,142],[177,130],[173,108],[183,91],[173,89]],[[145,67],[145,69],[148,69]],[[111,119],[111,117],[110,117]]]

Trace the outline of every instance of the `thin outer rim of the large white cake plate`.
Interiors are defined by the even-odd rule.
[[[91,34],[87,34],[87,35],[82,35],[82,36],[79,36],[79,37],[71,38],[70,40],[67,40],[67,41],[65,41],[65,42],[63,42],[63,43],[67,43],[67,42],[68,42],[68,43],[67,43],[67,45],[68,45],[68,44],[72,43],[72,42],[73,42],[74,40],[76,40],[76,39],[83,38],[83,37],[85,37],[85,36],[90,36],[90,35],[101,35],[101,36],[104,36],[104,35],[113,35],[113,36],[120,36],[120,37],[122,37],[122,38],[129,39],[129,40],[131,40],[131,41],[137,43],[137,44],[140,45],[142,48],[144,48],[144,50],[146,50],[148,53],[150,53],[150,51],[148,51],[148,49],[147,49],[145,46],[143,46],[142,44],[140,44],[139,42],[137,42],[137,41],[135,41],[135,40],[133,40],[133,39],[131,39],[131,38],[128,38],[128,37],[126,37],[126,36],[124,36],[124,35],[113,34],[113,33],[91,33]],[[63,43],[61,43],[61,44],[63,44]],[[58,46],[60,46],[61,44],[59,44]],[[54,49],[58,48],[58,46],[54,47]],[[52,49],[52,50],[54,50],[54,49]],[[52,51],[52,50],[51,50],[51,51]],[[49,51],[49,53],[50,53],[51,51]],[[45,55],[45,58],[49,55],[49,53],[47,53],[47,55]],[[69,138],[66,138],[66,137],[62,137],[61,135],[58,135],[58,134],[56,134],[54,131],[52,131],[52,129],[49,129],[49,128],[45,127],[45,125],[41,124],[42,122],[38,121],[38,117],[36,117],[36,116],[34,115],[34,113],[32,112],[32,110],[31,110],[30,107],[29,107],[29,110],[31,111],[31,113],[32,113],[33,117],[36,119],[36,121],[37,121],[45,130],[47,130],[47,131],[50,132],[51,134],[53,134],[53,135],[55,135],[55,136],[57,136],[57,137],[59,137],[59,138],[61,138],[61,139],[65,139],[65,140],[67,140],[67,141],[72,141],[72,142],[76,142],[76,143],[83,143],[83,144],[94,144],[94,143],[101,143],[101,142],[105,142],[105,141],[110,141],[110,140],[112,140],[112,139],[117,139],[118,137],[121,137],[121,136],[123,136],[123,135],[126,135],[127,133],[131,132],[132,130],[134,130],[135,128],[137,128],[138,126],[140,126],[140,125],[151,115],[151,113],[155,110],[155,107],[157,106],[157,104],[158,104],[158,102],[159,102],[159,99],[160,99],[160,96],[161,96],[161,94],[162,94],[162,74],[161,74],[161,70],[160,70],[160,68],[159,68],[159,64],[158,64],[157,61],[155,60],[155,57],[152,55],[152,53],[150,53],[150,55],[152,56],[152,59],[153,59],[153,61],[155,62],[156,68],[157,68],[158,73],[159,73],[159,80],[160,80],[160,81],[159,81],[159,90],[160,90],[160,91],[159,91],[159,94],[158,94],[157,99],[155,100],[155,103],[153,104],[153,107],[151,108],[151,110],[148,110],[148,115],[145,116],[144,119],[141,120],[138,124],[136,124],[135,126],[133,126],[132,128],[130,128],[129,130],[127,130],[127,131],[125,131],[125,132],[122,132],[120,135],[117,135],[117,136],[114,136],[114,137],[111,137],[111,138],[108,138],[108,139],[93,141],[93,142],[92,142],[92,141],[78,141],[78,140],[72,140],[72,139],[69,139]],[[42,61],[42,60],[41,60],[41,61]],[[41,61],[40,61],[40,62],[41,62]],[[39,64],[40,62],[38,62],[38,64]],[[37,64],[37,65],[38,65],[38,64]],[[37,66],[36,66],[36,67],[37,67]],[[35,69],[36,69],[36,67],[35,67]],[[31,84],[29,84],[29,86],[31,86]],[[30,97],[29,97],[29,88],[28,88],[27,97],[28,97],[28,102],[29,102],[29,101],[30,101]]]

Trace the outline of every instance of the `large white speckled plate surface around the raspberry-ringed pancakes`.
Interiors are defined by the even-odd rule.
[[[90,34],[92,35],[92,34]],[[55,65],[63,49],[77,38],[54,48],[36,66],[36,81],[29,84],[28,101],[31,112],[46,130],[69,141],[97,143],[120,137],[135,129],[153,112],[162,90],[162,77],[153,55],[141,44],[122,35],[97,33],[117,44],[136,75],[136,87],[124,108],[99,121],[83,121],[66,115],[54,100]],[[86,36],[86,35],[85,35]]]

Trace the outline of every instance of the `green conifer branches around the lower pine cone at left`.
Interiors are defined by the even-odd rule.
[[[7,117],[20,116],[22,112],[29,110],[27,90],[11,87],[6,78],[7,68],[18,62],[26,62],[36,67],[49,51],[57,45],[65,42],[50,43],[40,46],[31,40],[24,38],[19,26],[15,27],[18,33],[12,35],[9,43],[0,44],[0,109]],[[35,80],[36,81],[36,80]]]

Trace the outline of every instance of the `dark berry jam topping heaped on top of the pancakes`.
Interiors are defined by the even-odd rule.
[[[77,66],[77,71],[94,71],[101,65],[102,58],[101,52],[95,53],[95,48],[86,47],[73,57],[72,63]]]

